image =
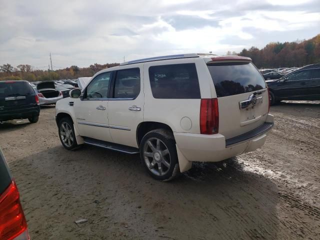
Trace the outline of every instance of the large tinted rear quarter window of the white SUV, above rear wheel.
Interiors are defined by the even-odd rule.
[[[201,98],[194,63],[150,66],[149,78],[154,98]]]

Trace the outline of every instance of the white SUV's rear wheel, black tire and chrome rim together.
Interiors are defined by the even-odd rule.
[[[140,158],[156,180],[169,181],[180,174],[173,134],[166,129],[146,133],[140,143]]]

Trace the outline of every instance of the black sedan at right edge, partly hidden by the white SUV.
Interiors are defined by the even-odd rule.
[[[266,82],[271,105],[281,100],[320,100],[320,67],[298,69]]]

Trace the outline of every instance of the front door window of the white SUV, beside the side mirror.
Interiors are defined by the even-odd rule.
[[[86,98],[107,98],[110,76],[111,72],[109,71],[94,77],[86,88]]]

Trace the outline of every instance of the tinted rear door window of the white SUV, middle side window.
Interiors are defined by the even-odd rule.
[[[114,82],[114,98],[134,98],[140,92],[140,68],[118,70]]]

